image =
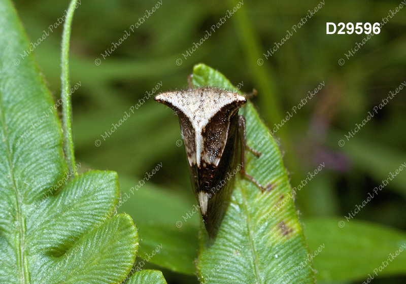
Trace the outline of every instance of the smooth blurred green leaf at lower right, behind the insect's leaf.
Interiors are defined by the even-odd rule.
[[[339,222],[341,226],[339,227]],[[304,235],[318,271],[318,280],[366,280],[371,276],[406,273],[406,233],[368,222],[313,219],[304,222]],[[403,247],[402,247],[403,246]],[[403,252],[399,252],[402,250]],[[398,255],[392,259],[392,256]],[[385,267],[383,262],[385,263]],[[380,267],[383,269],[380,271]],[[377,274],[374,270],[377,269]]]

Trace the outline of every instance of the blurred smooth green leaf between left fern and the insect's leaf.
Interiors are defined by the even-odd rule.
[[[138,181],[120,175],[120,188],[125,202],[117,211],[126,212],[137,224],[140,233],[139,256],[156,265],[184,274],[196,271],[194,260],[198,251],[198,215],[184,219],[193,209],[180,195],[152,186],[148,182],[131,194],[130,188]],[[164,214],[162,214],[164,213]],[[178,223],[181,222],[181,223]],[[151,253],[161,246],[153,257]]]

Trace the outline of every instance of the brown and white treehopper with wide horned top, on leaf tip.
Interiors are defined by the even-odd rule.
[[[210,87],[161,93],[154,99],[178,114],[193,191],[209,236],[215,238],[231,195],[232,181],[226,176],[236,166],[238,110],[247,100]]]

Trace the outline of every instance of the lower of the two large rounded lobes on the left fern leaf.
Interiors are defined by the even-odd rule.
[[[36,282],[43,283],[122,281],[135,261],[138,242],[134,240],[137,240],[137,230],[131,218],[124,214],[116,215],[100,228],[83,234],[61,257],[41,261],[43,257],[31,256],[32,262],[35,262],[31,277],[35,276]],[[61,249],[58,247],[57,253]]]

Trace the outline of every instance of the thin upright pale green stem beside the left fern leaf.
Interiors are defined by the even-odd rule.
[[[72,103],[70,82],[69,82],[69,43],[71,38],[71,28],[73,13],[76,9],[77,0],[72,0],[69,9],[65,15],[65,24],[63,25],[62,33],[62,55],[61,55],[61,85],[62,90],[60,97],[62,99],[62,131],[63,131],[63,151],[65,152],[65,160],[70,172],[74,172],[75,176],[78,173],[75,170],[75,155],[72,138]]]

